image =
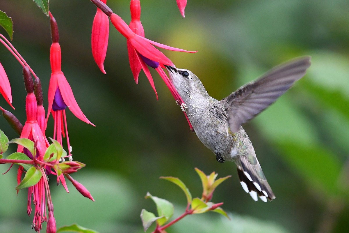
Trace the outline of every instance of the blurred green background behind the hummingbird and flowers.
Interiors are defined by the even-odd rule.
[[[107,2],[114,13],[130,21],[128,0]],[[164,53],[177,67],[198,75],[216,99],[277,64],[312,56],[306,76],[244,126],[276,199],[254,202],[243,191],[236,166],[218,163],[191,133],[156,72],[158,101],[143,72],[135,85],[126,39],[113,27],[104,63],[107,74],[99,71],[90,48],[96,11],[90,1],[51,0],[60,31],[62,71],[82,111],[96,124],[87,125],[67,111],[73,158],[87,165],[73,177],[96,202],[72,186],[67,194],[52,177],[57,226],[76,222],[101,233],[143,232],[141,210],[156,212],[154,203],[144,199],[147,191],[173,202],[174,216],[185,209],[183,192],[159,176],[179,177],[194,197],[201,196],[201,182],[194,171],[198,167],[206,174],[215,171],[218,177],[232,175],[212,200],[224,202],[231,221],[217,213],[197,214],[168,228],[169,233],[348,232],[349,1],[188,0],[185,19],[175,0],[142,0],[141,4],[146,37],[198,50]],[[1,0],[0,9],[12,17],[13,44],[47,93],[49,19],[30,0]],[[21,66],[3,46],[0,61],[12,85],[13,113],[24,123]],[[10,110],[3,98],[0,105]],[[9,138],[17,137],[3,117],[0,128]],[[52,136],[52,118],[47,128],[46,135]],[[14,145],[10,149],[16,150]],[[7,168],[2,165],[0,171]],[[15,195],[15,170],[0,176],[0,232],[34,232],[32,216],[26,214],[27,190]]]

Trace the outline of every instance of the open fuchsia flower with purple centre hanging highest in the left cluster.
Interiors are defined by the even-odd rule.
[[[51,62],[51,79],[49,84],[49,94],[48,102],[49,107],[47,109],[47,118],[49,118],[50,112],[54,118],[54,136],[53,138],[57,140],[62,145],[62,136],[67,137],[68,151],[69,155],[70,144],[67,129],[67,119],[65,114],[65,109],[68,107],[72,113],[79,118],[81,121],[87,124],[92,124],[87,117],[81,111],[79,105],[77,104],[72,88],[70,87],[67,79],[65,78],[61,70],[61,48],[58,43],[59,34],[57,22],[50,12],[50,22],[51,22],[51,34],[52,34],[52,45],[50,50],[50,62]],[[64,132],[65,128],[65,132]],[[66,134],[66,135],[65,135]]]

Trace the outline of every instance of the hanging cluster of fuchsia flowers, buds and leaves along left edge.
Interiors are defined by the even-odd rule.
[[[73,114],[82,121],[88,124],[92,123],[86,118],[77,105],[72,89],[61,71],[58,27],[51,13],[50,19],[53,43],[50,53],[52,74],[48,95],[49,110],[47,112],[47,119],[51,112],[54,118],[54,136],[53,139],[51,139],[53,144],[50,145],[45,135],[47,119],[43,106],[43,93],[40,79],[14,46],[5,36],[0,34],[0,42],[13,54],[23,67],[24,86],[27,92],[27,97],[25,99],[27,120],[24,126],[11,112],[0,107],[4,118],[20,135],[20,138],[13,139],[9,142],[18,144],[17,151],[8,155],[6,159],[2,159],[2,153],[4,153],[8,147],[8,143],[6,143],[8,139],[0,130],[0,164],[10,163],[10,168],[14,163],[20,165],[17,170],[16,189],[18,193],[20,189],[28,188],[27,213],[29,216],[33,212],[32,206],[34,205],[32,228],[40,232],[43,222],[46,221],[46,232],[53,233],[56,232],[57,228],[53,214],[53,203],[51,200],[48,175],[52,174],[57,176],[57,184],[61,183],[65,190],[69,192],[65,181],[65,177],[67,177],[83,196],[90,198],[92,201],[94,201],[94,199],[82,184],[75,181],[69,175],[70,173],[77,172],[85,165],[81,162],[72,161],[65,108],[68,107]],[[31,74],[34,75],[34,79]],[[1,64],[0,93],[13,108],[10,82]],[[62,136],[64,137],[65,134],[67,137],[69,154],[63,150]],[[66,157],[69,158],[67,162],[65,162],[64,159]],[[22,178],[23,175],[24,177]]]

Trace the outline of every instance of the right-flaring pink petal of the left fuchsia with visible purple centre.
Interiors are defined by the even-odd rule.
[[[57,77],[57,82],[58,82],[58,88],[62,94],[63,100],[67,104],[69,110],[71,112],[73,112],[73,114],[77,118],[79,118],[81,121],[95,126],[94,124],[92,124],[92,122],[89,121],[89,119],[87,119],[87,117],[81,111],[79,105],[77,104],[77,102],[75,100],[72,88],[70,87],[70,85],[69,85],[69,83],[68,83],[68,81],[65,78],[63,73],[62,73],[62,75],[59,75]]]

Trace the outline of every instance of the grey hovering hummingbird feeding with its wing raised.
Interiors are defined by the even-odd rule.
[[[251,140],[242,124],[274,103],[311,65],[309,56],[296,58],[272,68],[222,100],[211,97],[196,75],[165,65],[173,86],[183,99],[194,132],[218,162],[236,163],[240,183],[254,201],[267,202],[275,195],[258,162]]]

